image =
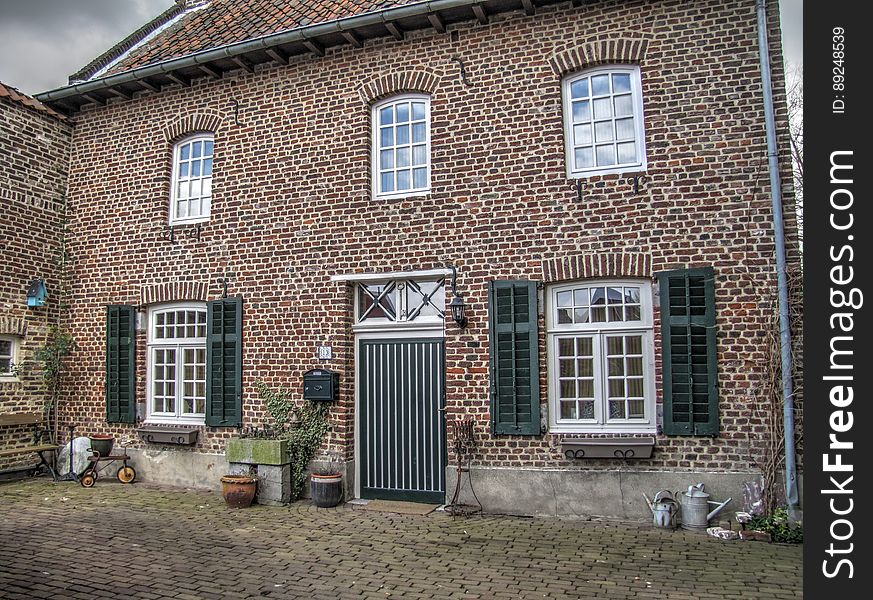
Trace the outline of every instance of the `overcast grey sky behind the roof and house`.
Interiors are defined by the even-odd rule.
[[[0,81],[36,94],[173,5],[174,0],[0,0]],[[803,64],[802,0],[780,0],[783,47]]]

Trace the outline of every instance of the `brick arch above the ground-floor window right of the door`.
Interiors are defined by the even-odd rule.
[[[546,283],[592,277],[652,277],[652,256],[644,252],[616,252],[543,261],[543,281]]]

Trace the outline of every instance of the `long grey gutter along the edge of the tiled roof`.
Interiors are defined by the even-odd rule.
[[[123,85],[125,83],[135,82],[147,77],[171,73],[187,67],[207,64],[215,60],[234,58],[246,54],[247,52],[266,50],[283,44],[305,42],[321,35],[336,34],[360,27],[381,25],[386,22],[397,21],[408,17],[426,16],[438,13],[442,10],[464,8],[468,6],[472,7],[477,4],[482,4],[483,1],[484,0],[428,0],[426,2],[417,2],[404,6],[385,8],[352,17],[342,17],[332,21],[297,27],[259,38],[244,40],[242,42],[234,42],[210,50],[201,50],[194,54],[164,60],[131,69],[130,71],[124,71],[123,73],[109,75],[108,77],[101,77],[100,79],[49,90],[47,92],[36,94],[35,97],[43,103],[55,102],[63,100],[64,98],[81,96],[87,93]]]

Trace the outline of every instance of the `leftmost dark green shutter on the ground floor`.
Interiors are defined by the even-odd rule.
[[[136,421],[136,309],[106,307],[106,421]]]

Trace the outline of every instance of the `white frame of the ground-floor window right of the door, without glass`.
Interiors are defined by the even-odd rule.
[[[639,321],[558,324],[557,294],[582,287],[640,288]],[[549,286],[546,290],[546,354],[549,394],[549,427],[556,433],[656,433],[655,407],[655,343],[652,316],[652,283],[641,279],[591,279]],[[606,368],[605,337],[616,334],[640,334],[643,355],[644,418],[608,420],[608,400],[605,397]],[[561,339],[580,336],[593,338],[594,360],[594,419],[564,420],[560,418],[558,379],[558,343]]]

